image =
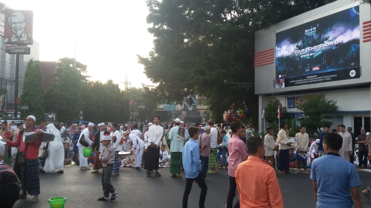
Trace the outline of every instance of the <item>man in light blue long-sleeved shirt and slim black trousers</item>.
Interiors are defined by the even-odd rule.
[[[191,127],[188,129],[190,139],[183,147],[183,169],[185,172],[185,189],[183,194],[183,208],[188,206],[188,195],[191,192],[193,181],[201,188],[199,208],[205,207],[207,185],[201,173],[200,147],[196,140],[198,139],[198,129]]]

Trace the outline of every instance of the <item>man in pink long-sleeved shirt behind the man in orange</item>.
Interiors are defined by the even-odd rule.
[[[245,144],[243,143],[242,140],[240,140],[241,124],[239,122],[234,122],[230,125],[230,127],[233,135],[227,143],[229,151],[228,162],[229,192],[227,197],[227,208],[232,208],[233,198],[236,195],[235,192],[237,184],[236,179],[234,178],[234,171],[241,162],[247,160]]]

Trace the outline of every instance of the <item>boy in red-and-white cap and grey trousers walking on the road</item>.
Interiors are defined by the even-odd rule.
[[[99,161],[101,161],[103,165],[103,197],[97,199],[98,201],[108,201],[109,193],[112,194],[109,201],[114,201],[118,197],[115,188],[111,184],[112,164],[115,161],[115,150],[112,147],[111,140],[112,136],[110,135],[104,135],[102,138],[102,144],[105,146],[105,148],[101,154],[99,154]]]

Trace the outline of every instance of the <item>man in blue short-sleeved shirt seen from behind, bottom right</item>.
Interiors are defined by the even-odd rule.
[[[326,155],[313,160],[311,179],[317,208],[362,208],[357,169],[339,155],[343,139],[334,132],[323,137]],[[349,192],[350,189],[350,192]]]

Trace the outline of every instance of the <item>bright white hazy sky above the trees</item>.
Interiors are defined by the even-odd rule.
[[[125,74],[133,87],[152,84],[138,63],[153,47],[145,0],[2,0],[12,9],[33,11],[33,39],[40,61],[75,56],[88,66],[92,81],[112,79],[124,89]],[[57,3],[59,2],[59,3]]]

